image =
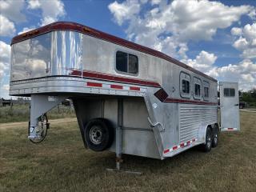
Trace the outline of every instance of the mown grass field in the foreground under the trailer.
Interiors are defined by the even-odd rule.
[[[122,168],[142,175],[113,173],[115,154],[83,147],[76,123],[51,127],[40,145],[24,129],[0,129],[0,191],[255,191],[256,118],[241,112],[242,131],[220,134],[217,148],[187,150],[163,161],[123,155]]]

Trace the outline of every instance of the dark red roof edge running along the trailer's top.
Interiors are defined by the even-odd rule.
[[[18,36],[15,36],[11,41],[11,45],[16,42],[21,42],[28,38],[34,38],[35,36],[38,36],[41,34],[46,34],[50,31],[54,31],[54,30],[74,30],[74,31],[78,31],[82,34],[87,34],[87,35],[93,36],[95,38],[101,38],[103,40],[106,40],[108,42],[113,42],[120,46],[126,46],[127,48],[130,48],[132,50],[138,50],[145,54],[150,54],[155,57],[165,59],[166,61],[172,62],[178,66],[182,66],[186,70],[190,70],[190,71],[194,72],[195,74],[202,75],[205,78],[209,78],[210,80],[217,82],[217,80],[215,78],[212,78],[212,77],[208,76],[207,74],[203,74],[201,71],[195,70],[194,68],[186,65],[185,63],[179,62],[177,59],[171,58],[170,56],[163,54],[162,52],[160,52],[158,50],[153,50],[146,46],[141,46],[141,45],[138,45],[137,43],[129,42],[123,38],[118,38],[118,37],[115,37],[114,35],[106,34],[100,30],[95,30],[93,28],[90,28],[88,26],[83,26],[76,22],[53,22],[47,26],[42,26],[36,30],[30,30],[26,33],[19,34]]]

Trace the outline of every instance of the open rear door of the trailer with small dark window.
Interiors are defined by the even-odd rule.
[[[240,130],[238,82],[219,82],[222,131]]]

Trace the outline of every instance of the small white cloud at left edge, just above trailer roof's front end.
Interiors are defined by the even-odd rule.
[[[0,14],[0,35],[13,36],[15,31],[14,22]]]

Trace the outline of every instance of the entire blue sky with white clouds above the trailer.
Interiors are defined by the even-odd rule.
[[[72,21],[160,50],[219,81],[256,87],[256,1],[0,0],[0,97],[8,97],[10,41]]]

